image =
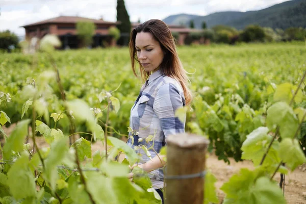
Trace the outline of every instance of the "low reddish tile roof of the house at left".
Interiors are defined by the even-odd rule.
[[[55,18],[50,18],[47,20],[42,20],[39,22],[31,23],[28,25],[23,25],[21,27],[30,27],[32,25],[40,25],[40,24],[46,24],[46,23],[77,23],[78,21],[92,21],[96,24],[119,24],[119,22],[110,22],[110,21],[104,21],[104,20],[97,20],[97,19],[92,19],[92,18],[84,18],[84,17],[79,17],[79,16],[59,16]]]

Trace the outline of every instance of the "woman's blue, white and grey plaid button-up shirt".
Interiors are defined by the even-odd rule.
[[[139,164],[149,161],[149,156],[154,158],[156,153],[150,149],[149,154],[146,154],[142,148],[135,146],[152,146],[159,153],[166,145],[167,136],[185,132],[185,121],[181,122],[174,116],[175,110],[183,106],[185,97],[180,83],[162,74],[160,70],[152,73],[131,109],[130,127],[133,131],[129,133],[127,144],[140,154]],[[153,140],[146,142],[143,138],[149,135]],[[151,171],[149,177],[154,188],[163,187],[163,169]]]

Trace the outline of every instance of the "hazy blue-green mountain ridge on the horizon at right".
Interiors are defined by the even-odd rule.
[[[306,28],[306,0],[283,2],[258,11],[224,11],[207,16],[177,14],[163,19],[167,24],[185,25],[186,27],[189,27],[190,20],[194,21],[197,29],[201,29],[203,21],[206,22],[207,28],[219,24],[229,25],[238,30],[244,29],[249,24],[258,24],[273,29]]]

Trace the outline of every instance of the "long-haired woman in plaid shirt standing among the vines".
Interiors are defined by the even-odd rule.
[[[163,199],[162,168],[165,161],[159,152],[166,145],[169,135],[184,133],[185,121],[174,115],[176,109],[191,102],[188,78],[176,53],[171,32],[161,20],[148,20],[132,30],[130,55],[134,74],[137,77],[136,61],[144,82],[131,109],[130,127],[133,131],[127,144],[137,149],[142,158],[132,168],[138,166],[150,172],[153,188]],[[153,140],[145,140],[148,136]],[[153,147],[154,150],[145,152],[137,147],[139,145]]]

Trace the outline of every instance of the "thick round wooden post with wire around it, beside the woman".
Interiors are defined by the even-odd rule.
[[[168,137],[166,204],[203,203],[205,178],[200,175],[191,179],[182,177],[205,171],[208,144],[208,139],[194,134],[176,134]],[[180,179],[177,179],[177,176]]]

